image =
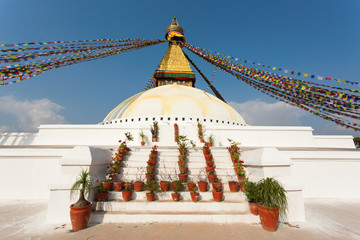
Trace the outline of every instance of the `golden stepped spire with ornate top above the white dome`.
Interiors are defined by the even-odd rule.
[[[166,28],[165,38],[169,41],[169,47],[155,71],[156,86],[181,84],[194,87],[195,73],[181,49],[186,43],[184,30],[175,17]]]

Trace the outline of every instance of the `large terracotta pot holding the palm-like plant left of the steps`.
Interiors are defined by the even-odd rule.
[[[71,225],[74,231],[79,231],[86,228],[89,223],[92,203],[85,207],[73,207],[73,205],[70,206]]]

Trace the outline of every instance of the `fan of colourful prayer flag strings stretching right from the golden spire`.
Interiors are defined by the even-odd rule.
[[[188,44],[185,47],[210,64],[272,98],[299,107],[340,126],[355,131],[360,130],[360,96],[357,95],[359,91],[281,76],[233,62],[229,58],[219,57],[198,47]]]

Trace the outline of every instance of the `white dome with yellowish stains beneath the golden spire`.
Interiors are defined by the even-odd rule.
[[[209,118],[246,125],[238,112],[214,95],[197,88],[176,84],[135,94],[114,108],[104,122],[144,116]]]

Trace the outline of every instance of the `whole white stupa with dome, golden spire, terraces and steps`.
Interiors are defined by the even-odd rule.
[[[177,160],[175,123],[179,133],[196,144],[188,159],[192,178],[201,175],[204,168],[200,164],[202,143],[198,138],[201,123],[205,136],[214,138],[211,149],[223,181],[233,168],[226,149],[228,139],[232,139],[241,143],[241,159],[250,180],[275,177],[284,185],[289,199],[286,221],[306,220],[304,198],[360,197],[360,152],[355,149],[352,136],[314,136],[311,127],[249,126],[230,105],[195,88],[195,73],[182,51],[186,39],[176,19],[166,29],[165,38],[169,46],[154,73],[156,87],[126,99],[101,123],[41,125],[35,134],[1,134],[0,198],[47,199],[48,221],[69,222],[69,190],[77,173],[89,169],[104,178],[125,133],[132,133],[134,141],[128,143],[131,151],[121,177],[134,180],[136,169],[146,166],[154,145],[159,146],[160,153],[158,175],[173,169]],[[157,142],[152,142],[155,121],[159,136]],[[150,139],[144,147],[140,146],[140,132]],[[123,203],[117,199],[117,193],[112,193],[112,201],[95,204],[92,221],[256,221],[241,192],[228,194],[216,204],[206,194],[203,202],[192,203],[184,197],[178,205],[168,201],[144,204],[144,195],[138,193],[135,197],[137,201]]]

